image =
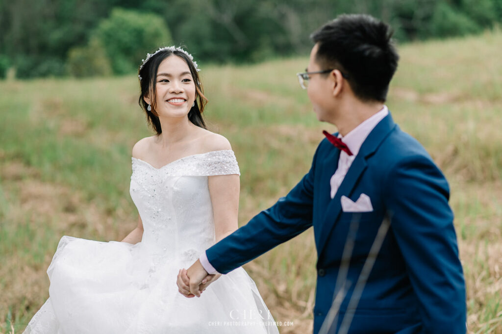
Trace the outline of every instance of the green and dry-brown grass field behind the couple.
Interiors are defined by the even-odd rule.
[[[394,119],[446,174],[467,282],[469,333],[502,333],[502,32],[405,45]],[[241,170],[239,223],[285,195],[323,138],[295,73],[307,58],[203,68],[211,130]],[[149,136],[135,76],[0,82],[0,332],[22,332],[48,297],[62,235],[120,240],[136,226],[131,149]],[[312,326],[312,231],[247,269],[282,333]]]

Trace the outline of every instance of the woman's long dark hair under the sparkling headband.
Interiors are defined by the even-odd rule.
[[[197,92],[197,96],[195,97],[195,105],[188,112],[188,119],[193,124],[203,129],[206,129],[206,124],[204,123],[204,119],[202,118],[202,113],[204,112],[204,107],[207,104],[207,99],[203,93],[202,84],[200,83],[199,79],[199,74],[195,69],[195,66],[193,65],[190,58],[188,58],[188,56],[181,51],[163,50],[157,53],[152,58],[150,58],[148,62],[143,66],[143,68],[138,70],[138,74],[142,78],[140,80],[141,95],[138,100],[138,103],[145,111],[148,122],[150,123],[152,128],[155,130],[157,135],[160,135],[162,133],[162,128],[159,121],[159,115],[155,111],[157,102],[157,100],[155,99],[155,96],[157,94],[156,90],[157,71],[159,70],[160,63],[162,63],[164,59],[172,55],[182,58],[185,61],[185,63],[187,63],[188,68],[190,69],[190,73],[192,74],[193,81],[195,83],[195,90]],[[154,97],[150,98],[152,107],[152,110],[150,111],[148,110],[148,103],[146,103],[143,98],[145,96]]]

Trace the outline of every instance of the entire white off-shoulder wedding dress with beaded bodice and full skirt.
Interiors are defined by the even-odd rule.
[[[25,333],[278,333],[242,268],[200,298],[178,292],[188,268],[215,242],[208,176],[239,174],[233,151],[191,155],[155,168],[133,158],[130,193],[142,241],[63,236],[47,273],[49,299]]]

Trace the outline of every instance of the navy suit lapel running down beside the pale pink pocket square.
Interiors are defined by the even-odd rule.
[[[382,144],[382,141],[389,135],[389,133],[392,131],[392,129],[394,129],[395,126],[396,124],[394,123],[392,116],[389,113],[389,115],[387,115],[382,121],[380,121],[380,123],[375,126],[375,128],[369,133],[369,135],[362,143],[361,148],[359,149],[359,153],[352,162],[352,165],[350,165],[350,168],[348,169],[347,174],[340,184],[335,197],[333,197],[333,199],[329,201],[325,215],[322,218],[321,226],[319,229],[320,231],[318,234],[319,243],[317,245],[319,257],[321,255],[322,249],[329,239],[331,231],[338,222],[338,218],[342,211],[341,196],[345,195],[347,197],[350,197],[355,188],[355,185],[357,184],[357,181],[368,166],[367,159],[374,154],[376,149]],[[338,161],[338,159],[336,161]],[[323,179],[322,182],[327,182],[329,186],[329,178],[327,179],[327,181],[326,179]]]

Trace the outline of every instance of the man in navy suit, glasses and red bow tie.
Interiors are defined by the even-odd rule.
[[[311,36],[300,84],[319,121],[339,132],[325,133],[289,194],[188,269],[192,294],[200,296],[208,274],[227,273],[313,226],[314,333],[323,322],[330,333],[344,326],[349,333],[465,333],[448,183],[384,105],[399,58],[391,35],[369,16],[342,15]]]

